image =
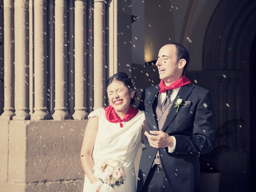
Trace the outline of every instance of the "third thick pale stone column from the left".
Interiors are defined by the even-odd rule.
[[[46,50],[47,0],[34,1],[34,89],[35,107],[32,120],[50,119],[47,109],[47,50]]]

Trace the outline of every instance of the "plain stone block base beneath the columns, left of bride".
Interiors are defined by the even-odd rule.
[[[87,120],[0,120],[0,191],[82,192]]]

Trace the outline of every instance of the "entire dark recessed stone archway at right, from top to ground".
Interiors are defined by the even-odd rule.
[[[204,37],[203,73],[214,92],[216,134],[231,149],[220,155],[222,172],[220,191],[252,190],[250,172],[254,160],[250,152],[253,118],[250,105],[250,52],[256,36],[256,1],[220,1],[208,24]],[[233,129],[224,125],[239,122]],[[240,123],[242,121],[242,123]],[[254,124],[255,126],[255,124]],[[227,132],[229,136],[227,136]]]

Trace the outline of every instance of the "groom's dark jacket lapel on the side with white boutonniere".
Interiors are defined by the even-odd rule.
[[[188,84],[188,85],[181,87],[176,98],[179,96],[182,99],[182,101],[186,101],[186,99],[188,98],[188,96],[193,88],[194,87],[192,86],[192,84]],[[177,100],[176,98],[175,98],[174,102],[176,102],[176,100]],[[170,111],[168,113],[166,121],[164,122],[164,126],[162,128],[163,132],[167,129],[168,125],[174,120],[174,118],[177,115],[177,113],[176,113],[177,108],[174,108],[174,106],[175,106],[174,102],[170,108]]]

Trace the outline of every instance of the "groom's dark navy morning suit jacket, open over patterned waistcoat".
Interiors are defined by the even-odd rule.
[[[159,86],[145,88],[138,106],[145,112],[148,132],[158,130],[156,106],[159,89]],[[176,138],[176,147],[172,153],[168,152],[168,147],[160,148],[160,159],[173,192],[200,192],[199,155],[212,151],[214,147],[212,95],[200,86],[188,84],[180,88],[178,96],[182,101],[190,101],[190,106],[181,107],[176,113],[177,108],[172,105],[162,131]],[[144,144],[137,192],[142,190],[158,150],[149,145],[147,137]]]

